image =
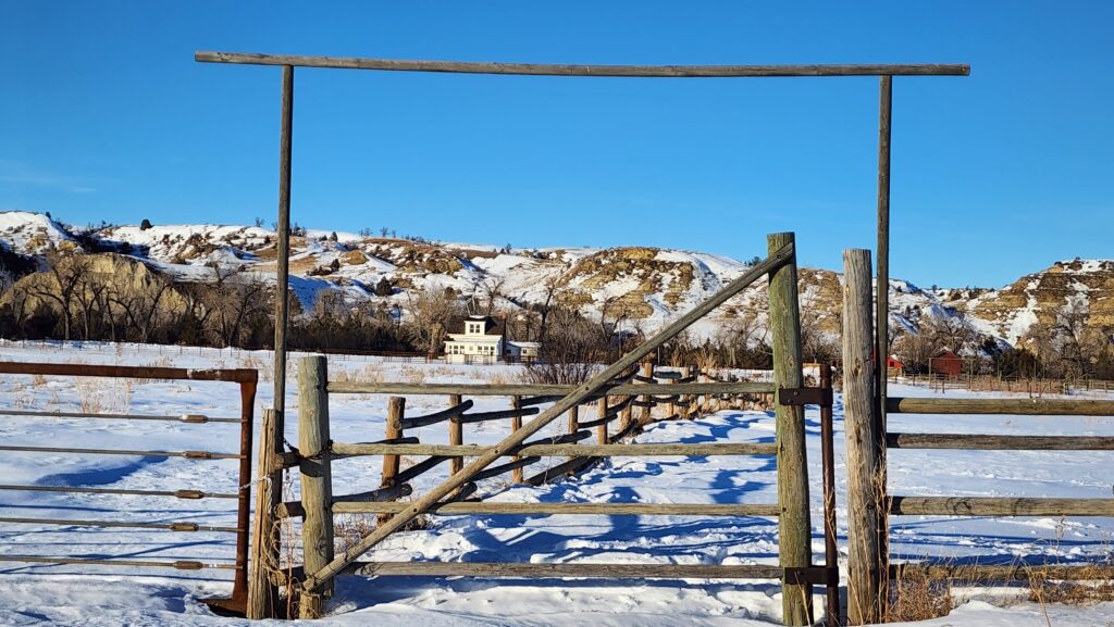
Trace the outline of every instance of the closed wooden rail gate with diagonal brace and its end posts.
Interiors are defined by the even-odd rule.
[[[325,357],[307,357],[299,369],[299,445],[296,451],[282,445],[282,434],[274,412],[264,415],[262,432],[261,472],[268,478],[261,490],[255,520],[256,538],[253,545],[252,595],[248,613],[253,617],[277,614],[276,582],[258,565],[278,564],[278,542],[274,530],[276,520],[285,516],[303,517],[302,568],[294,572],[296,581],[289,586],[289,594],[296,595],[302,617],[316,617],[322,613],[322,601],[329,595],[333,578],[344,572],[373,575],[443,575],[485,577],[607,577],[607,578],[776,578],[783,581],[784,619],[789,625],[812,621],[811,587],[828,585],[834,591],[838,571],[834,564],[834,543],[830,542],[824,567],[812,565],[811,517],[809,511],[809,477],[804,442],[804,403],[824,403],[830,428],[830,388],[827,394],[818,389],[803,388],[800,352],[800,326],[797,294],[797,257],[791,233],[770,235],[770,256],[753,266],[743,276],[723,287],[693,311],[670,324],[657,335],[625,354],[580,385],[490,385],[481,390],[460,385],[400,385],[388,383],[352,383],[329,381]],[[674,401],[674,395],[725,393],[776,393],[776,442],[713,443],[713,444],[628,444],[604,431],[602,443],[577,444],[570,441],[529,442],[528,439],[558,417],[574,411],[586,402],[600,406],[595,427],[603,427],[615,414],[622,414],[622,403],[610,405],[608,396],[646,395],[647,385],[624,383],[634,369],[658,346],[675,337],[691,324],[716,306],[739,294],[762,276],[769,275],[771,334],[774,354],[772,383],[659,383],[653,385],[654,395]],[[459,419],[467,414],[469,401],[452,399],[452,406],[444,412],[405,419],[401,399],[391,403],[388,439],[372,443],[334,442],[329,430],[329,396],[339,393],[427,393],[446,395],[510,395],[557,396],[556,402],[529,422],[517,425],[510,435],[490,447],[463,444],[421,444],[403,435],[407,427],[442,420],[447,415]],[[827,398],[827,400],[825,400]],[[553,399],[547,399],[553,400]],[[537,399],[522,399],[519,406],[507,412],[496,412],[497,418],[520,420],[537,413],[529,404]],[[635,401],[629,401],[632,404]],[[629,405],[628,405],[629,406]],[[622,409],[619,409],[622,408]],[[475,418],[475,414],[473,414]],[[491,418],[480,414],[481,419]],[[590,422],[590,421],[586,421]],[[632,429],[628,422],[624,430]],[[629,431],[628,431],[629,432]],[[830,433],[830,429],[829,429]],[[620,431],[617,435],[623,435]],[[579,439],[576,433],[573,439]],[[456,441],[460,441],[457,438]],[[828,448],[830,451],[830,448]],[[390,502],[405,493],[404,483],[412,474],[399,472],[397,462],[388,467],[388,477],[380,490],[358,494],[335,496],[331,479],[331,461],[339,457],[385,455],[391,464],[397,455],[430,455],[416,468],[428,468],[443,459],[451,459],[455,472],[448,480],[432,488],[412,502]],[[641,457],[641,455],[774,455],[778,466],[778,502],[768,504],[653,504],[653,503],[485,503],[461,502],[473,482],[487,473],[506,472],[519,468],[515,460],[496,466],[504,458],[531,455],[570,455],[574,458]],[[472,461],[463,463],[462,458]],[[274,487],[282,482],[285,468],[300,469],[302,500],[282,503]],[[567,469],[565,469],[567,470]],[[830,482],[830,472],[825,473]],[[266,489],[267,487],[271,489]],[[383,515],[378,527],[363,536],[352,548],[335,555],[333,515],[362,512]],[[492,513],[492,515],[574,515],[607,513],[687,515],[687,516],[761,516],[779,519],[780,564],[776,566],[723,565],[607,565],[607,564],[459,564],[459,562],[361,562],[368,550],[392,533],[403,530],[416,517],[431,513]],[[828,517],[825,516],[825,519]],[[838,616],[838,599],[832,618]]]

